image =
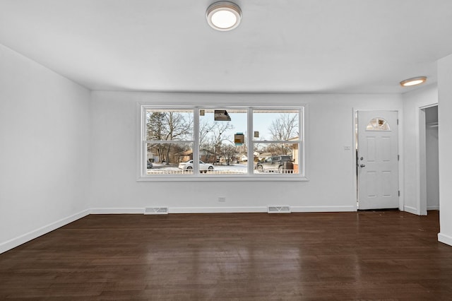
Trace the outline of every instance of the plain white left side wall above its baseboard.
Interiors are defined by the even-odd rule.
[[[89,100],[0,45],[0,253],[88,213]]]

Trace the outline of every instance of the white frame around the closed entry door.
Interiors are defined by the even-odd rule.
[[[398,198],[398,209],[400,211],[403,211],[404,201],[403,201],[403,122],[402,122],[402,114],[400,114],[400,110],[394,109],[394,110],[388,110],[388,109],[359,109],[358,107],[354,107],[352,109],[352,120],[353,120],[353,130],[352,130],[352,137],[353,137],[353,187],[355,189],[356,193],[356,201],[358,205],[358,175],[357,175],[357,111],[395,111],[398,112],[398,120],[399,120],[399,129],[398,129],[398,153],[400,154],[400,160],[398,161],[398,183],[399,183],[399,190],[400,190],[400,196]],[[358,206],[357,206],[358,208]]]

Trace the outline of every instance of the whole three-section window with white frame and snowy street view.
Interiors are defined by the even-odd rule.
[[[138,180],[303,180],[304,107],[139,105]]]

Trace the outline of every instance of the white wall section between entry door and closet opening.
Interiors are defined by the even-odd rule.
[[[427,204],[421,206],[421,175],[425,175],[420,165],[420,127],[424,124],[420,122],[420,110],[422,107],[434,105],[438,102],[438,89],[436,85],[427,85],[409,93],[402,95],[403,97],[403,148],[405,152],[403,156],[403,194],[404,194],[404,210],[417,215],[427,214]],[[424,197],[424,199],[427,196]]]

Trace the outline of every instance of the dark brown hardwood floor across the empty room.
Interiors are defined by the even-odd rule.
[[[439,213],[92,215],[0,254],[0,300],[452,300]]]

